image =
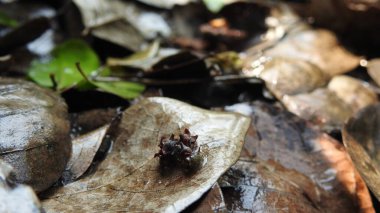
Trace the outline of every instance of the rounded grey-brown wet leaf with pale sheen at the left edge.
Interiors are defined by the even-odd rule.
[[[0,78],[0,159],[16,181],[37,192],[52,185],[70,157],[67,106],[57,94],[22,80]]]

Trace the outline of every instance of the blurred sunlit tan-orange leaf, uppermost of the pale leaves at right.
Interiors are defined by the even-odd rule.
[[[252,69],[252,64],[258,60],[257,47],[247,51],[246,69]],[[285,38],[272,47],[262,49],[260,57],[285,57],[302,60],[318,66],[329,76],[345,73],[359,65],[360,57],[344,49],[335,35],[327,30],[313,30],[306,25],[293,27]],[[345,63],[341,63],[344,61]],[[254,67],[253,67],[254,68]]]

